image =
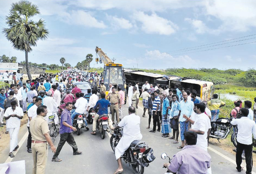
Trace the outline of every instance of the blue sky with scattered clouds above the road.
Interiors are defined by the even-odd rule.
[[[5,16],[13,2],[17,1],[0,0],[1,31],[7,27]],[[59,60],[64,57],[75,66],[92,54],[91,67],[103,67],[95,62],[98,46],[124,68],[247,70],[255,66],[256,43],[250,43],[256,42],[254,0],[30,2],[41,12],[33,20],[42,18],[50,32],[29,53],[30,62],[61,65]],[[12,48],[1,32],[0,55],[4,54],[16,56],[18,62],[25,60],[25,53]]]

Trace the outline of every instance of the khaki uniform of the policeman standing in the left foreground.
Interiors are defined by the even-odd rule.
[[[44,174],[48,154],[44,134],[49,132],[48,124],[43,116],[37,115],[30,121],[29,126],[32,136],[33,174]]]

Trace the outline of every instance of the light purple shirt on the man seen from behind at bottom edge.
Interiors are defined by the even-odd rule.
[[[179,174],[207,174],[211,156],[196,145],[186,145],[172,157],[169,170]]]

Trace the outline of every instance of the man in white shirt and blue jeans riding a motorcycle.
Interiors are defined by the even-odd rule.
[[[71,122],[72,122],[72,125],[73,125],[73,120],[74,120],[74,117],[77,115],[77,114],[84,114],[84,112],[86,111],[85,108],[87,107],[88,105],[88,102],[87,100],[84,98],[84,97],[80,97],[79,99],[76,100],[75,102],[75,111],[73,112],[73,114],[71,115]],[[87,126],[87,121],[86,121],[86,118],[84,117],[84,122],[85,122],[85,128],[87,130],[89,130],[89,127]]]

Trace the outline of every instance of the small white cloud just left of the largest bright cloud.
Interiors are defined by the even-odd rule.
[[[107,15],[107,18],[114,29],[131,29],[133,27],[133,24],[124,18],[118,18],[110,15]]]

